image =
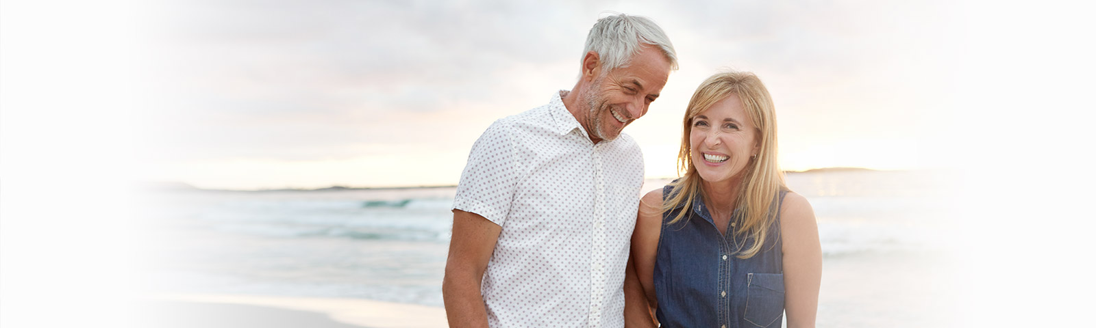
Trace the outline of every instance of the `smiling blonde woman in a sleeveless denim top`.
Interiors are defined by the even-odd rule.
[[[776,161],[776,113],[749,72],[718,73],[689,101],[685,175],[648,192],[625,283],[629,326],[814,327],[822,277],[810,203]]]

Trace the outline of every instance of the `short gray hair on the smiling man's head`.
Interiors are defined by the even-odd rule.
[[[583,58],[590,51],[597,52],[602,69],[606,72],[627,66],[631,57],[639,52],[640,44],[658,47],[670,60],[670,69],[677,70],[677,52],[670,37],[654,21],[644,16],[615,14],[597,20],[586,36],[586,49]]]

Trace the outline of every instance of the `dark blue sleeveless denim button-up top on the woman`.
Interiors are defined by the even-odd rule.
[[[669,197],[671,186],[663,189]],[[787,191],[776,197],[776,220],[765,245],[751,258],[735,257],[753,245],[716,229],[704,201],[697,198],[685,218],[666,224],[683,209],[662,216],[654,261],[654,291],[662,327],[753,328],[781,327],[784,317],[784,262],[779,206]],[[733,215],[739,215],[735,210]],[[731,221],[732,223],[734,220]]]

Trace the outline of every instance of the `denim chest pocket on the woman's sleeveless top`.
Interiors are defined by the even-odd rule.
[[[784,315],[784,273],[746,273],[743,318],[755,327],[769,327]]]

